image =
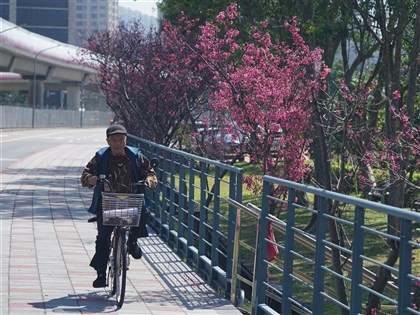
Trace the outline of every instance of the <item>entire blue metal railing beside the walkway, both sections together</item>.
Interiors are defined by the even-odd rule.
[[[232,303],[252,314],[373,314],[365,304],[374,296],[377,314],[420,314],[412,305],[420,284],[419,213],[270,176],[263,177],[261,209],[245,206],[242,169],[131,136],[129,143],[160,159],[151,224]],[[271,195],[273,185],[286,188],[287,197]],[[296,202],[302,192],[309,205]],[[280,208],[278,218],[270,214]],[[387,215],[398,218],[398,233],[389,234]],[[311,216],[316,226],[308,230],[302,222]],[[331,226],[339,241],[331,240]],[[390,242],[398,252],[387,264]],[[280,251],[272,261],[268,244]],[[383,292],[372,289],[379,269],[391,275]]]

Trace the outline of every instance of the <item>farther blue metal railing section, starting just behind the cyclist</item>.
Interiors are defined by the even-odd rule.
[[[242,201],[243,170],[133,136],[128,143],[159,159],[151,224],[229,298],[236,210],[227,199]]]

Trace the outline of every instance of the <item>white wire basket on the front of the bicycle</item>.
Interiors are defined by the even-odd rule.
[[[144,194],[102,192],[102,219],[104,225],[138,226]]]

